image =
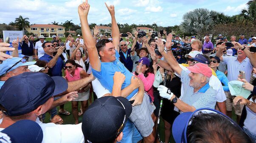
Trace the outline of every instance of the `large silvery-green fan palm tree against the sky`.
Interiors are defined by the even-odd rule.
[[[191,33],[202,38],[203,32],[211,30],[214,26],[215,22],[213,19],[217,14],[217,12],[209,11],[206,8],[197,8],[189,11],[183,15],[180,29],[183,33]]]

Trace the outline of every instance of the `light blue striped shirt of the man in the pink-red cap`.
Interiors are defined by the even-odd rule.
[[[194,88],[192,86],[189,86],[189,73],[189,71],[187,72],[186,70],[182,70],[180,74],[180,81],[183,83],[184,88],[184,94],[180,100],[188,105],[193,106],[196,109],[214,109],[217,102],[216,91],[207,83],[197,92],[194,92]]]

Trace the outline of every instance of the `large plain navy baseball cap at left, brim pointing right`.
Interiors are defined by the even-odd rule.
[[[25,72],[8,78],[0,89],[0,104],[8,116],[20,116],[34,111],[50,97],[65,92],[68,83],[61,76]]]

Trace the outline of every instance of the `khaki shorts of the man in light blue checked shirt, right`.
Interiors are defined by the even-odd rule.
[[[232,108],[234,108],[235,114],[241,116],[244,105],[236,104],[234,105],[233,99],[235,96],[231,96],[230,92],[225,92],[227,100],[226,100],[226,108],[227,111],[232,111]]]

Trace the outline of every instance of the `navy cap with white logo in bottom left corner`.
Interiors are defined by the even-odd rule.
[[[41,143],[43,132],[39,124],[20,120],[0,132],[1,143]]]

